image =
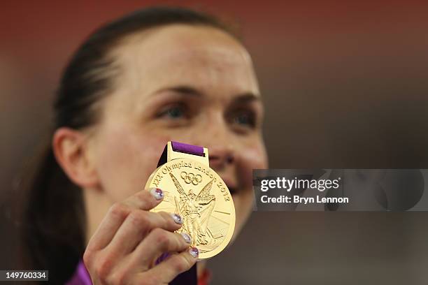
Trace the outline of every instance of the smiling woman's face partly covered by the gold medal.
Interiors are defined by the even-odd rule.
[[[129,36],[112,55],[114,91],[91,138],[101,194],[113,204],[143,189],[169,140],[201,145],[231,189],[238,233],[252,209],[252,168],[267,167],[248,52],[218,29],[175,24]]]

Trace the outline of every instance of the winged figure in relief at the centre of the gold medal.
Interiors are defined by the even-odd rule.
[[[192,238],[192,245],[208,245],[215,242],[213,235],[208,230],[208,221],[215,206],[215,196],[211,194],[213,180],[208,182],[198,194],[194,189],[189,189],[186,193],[176,177],[169,173],[180,198],[174,197],[176,212],[183,217],[183,227],[180,231],[185,231]]]

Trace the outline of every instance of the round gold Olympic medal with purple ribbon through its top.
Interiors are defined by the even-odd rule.
[[[208,166],[208,149],[168,142],[145,185],[152,187],[164,191],[164,200],[152,211],[183,218],[177,232],[190,235],[199,259],[211,258],[229,244],[235,228],[234,201],[224,181]]]

